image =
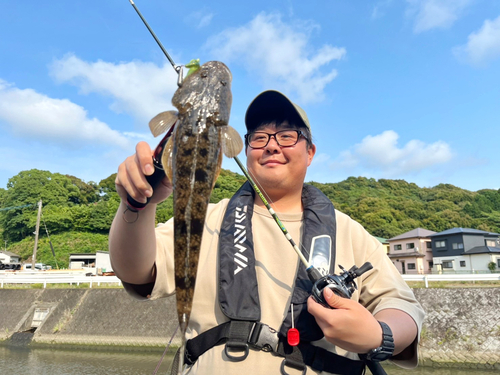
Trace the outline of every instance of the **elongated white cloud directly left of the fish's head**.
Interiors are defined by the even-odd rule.
[[[50,72],[58,82],[72,83],[84,94],[110,96],[113,111],[128,113],[140,121],[149,121],[159,112],[171,109],[177,89],[177,73],[169,63],[159,67],[141,61],[86,62],[68,54],[54,61]]]

